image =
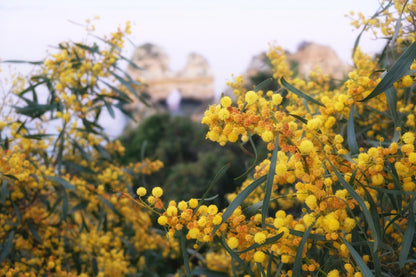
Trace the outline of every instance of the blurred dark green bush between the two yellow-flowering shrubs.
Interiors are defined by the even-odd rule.
[[[164,168],[157,174],[137,180],[138,184],[162,185],[171,200],[188,199],[202,195],[213,176],[229,164],[229,169],[211,191],[218,195],[218,203],[224,206],[224,196],[233,192],[243,179],[234,180],[254,161],[253,154],[242,153],[240,147],[230,145],[219,147],[204,138],[207,129],[188,117],[174,117],[169,114],[155,114],[144,119],[136,130],[121,137],[125,146],[124,163],[137,162],[143,156],[150,156],[163,162]],[[265,146],[256,143],[259,156],[265,157]],[[246,145],[247,151],[252,151]]]

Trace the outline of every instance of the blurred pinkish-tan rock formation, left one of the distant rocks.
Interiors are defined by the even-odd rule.
[[[144,80],[147,84],[145,92],[156,107],[168,109],[166,100],[169,95],[170,99],[180,97],[180,105],[191,102],[196,109],[214,98],[213,74],[207,60],[199,54],[189,54],[185,67],[173,72],[169,67],[168,55],[160,47],[148,43],[135,50],[132,61],[142,70],[130,66],[127,73],[135,80]],[[171,101],[175,102],[175,99]],[[130,104],[126,108],[135,113],[136,118],[142,117],[137,116],[143,110],[140,103]],[[187,112],[189,111],[187,107]]]

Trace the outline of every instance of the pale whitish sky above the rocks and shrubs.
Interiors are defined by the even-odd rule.
[[[349,62],[358,31],[344,15],[372,15],[377,8],[377,0],[0,0],[0,59],[40,60],[60,41],[85,38],[84,29],[70,21],[98,15],[97,34],[103,35],[131,20],[132,42],[160,45],[174,70],[190,52],[205,56],[221,93],[232,74],[243,73],[269,43],[294,52],[302,41],[317,42]],[[370,54],[380,46],[371,36],[363,38]],[[125,55],[133,49],[127,44]]]

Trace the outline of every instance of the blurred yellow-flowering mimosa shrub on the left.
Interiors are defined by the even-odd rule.
[[[112,115],[137,94],[119,67],[129,28],[101,45],[61,43],[32,62],[37,73],[18,79],[16,115],[0,120],[0,275],[172,271],[178,244],[129,199],[133,180],[162,164],[122,166],[124,147],[99,124],[103,109]]]

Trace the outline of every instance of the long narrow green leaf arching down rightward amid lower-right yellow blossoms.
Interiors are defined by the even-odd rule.
[[[336,167],[332,164],[332,162],[328,159],[329,164],[332,166],[332,169],[335,172],[335,175],[337,176],[338,180],[340,181],[341,185],[347,189],[348,193],[355,199],[355,201],[358,202],[358,205],[360,206],[364,217],[367,221],[368,227],[370,228],[373,236],[374,236],[374,247],[373,247],[373,253],[377,251],[378,244],[380,242],[380,238],[378,237],[379,232],[377,232],[374,219],[371,217],[370,211],[367,209],[367,206],[364,203],[364,200],[361,198],[361,196],[351,187],[350,184],[348,184],[347,181],[345,181],[344,177],[342,177],[341,173],[336,169]]]

